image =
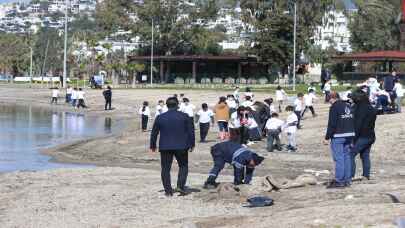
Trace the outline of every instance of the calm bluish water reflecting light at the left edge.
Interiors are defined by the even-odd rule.
[[[122,124],[112,125],[108,117],[0,105],[0,172],[78,167],[52,163],[50,157],[41,155],[39,150],[78,139],[104,136],[122,127]]]

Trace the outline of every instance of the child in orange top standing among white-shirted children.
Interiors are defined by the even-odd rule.
[[[219,128],[219,138],[221,141],[224,141],[229,138],[228,121],[230,117],[226,97],[219,98],[218,104],[215,105],[214,113]]]

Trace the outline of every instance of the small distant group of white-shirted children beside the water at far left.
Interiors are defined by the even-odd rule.
[[[51,104],[58,104],[59,88],[54,87],[51,90],[52,90]],[[83,91],[82,88],[77,89],[68,86],[66,89],[65,102],[71,104],[75,109],[80,107],[87,108],[84,102],[84,95],[85,92]]]

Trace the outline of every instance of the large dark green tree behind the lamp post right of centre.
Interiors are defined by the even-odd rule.
[[[332,0],[297,1],[297,55],[312,44],[315,28],[325,13],[334,7]],[[293,59],[293,0],[242,0],[242,20],[250,33],[247,53],[279,66]]]

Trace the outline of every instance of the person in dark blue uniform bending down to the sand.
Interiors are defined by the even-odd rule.
[[[218,186],[215,180],[226,163],[233,165],[235,185],[249,184],[253,178],[255,167],[260,165],[264,160],[264,157],[233,141],[215,144],[211,147],[211,155],[214,160],[214,167],[209,173],[204,188],[215,188]]]

